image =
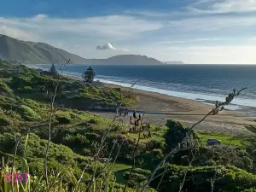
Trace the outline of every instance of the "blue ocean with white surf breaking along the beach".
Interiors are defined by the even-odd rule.
[[[30,67],[48,70],[50,65]],[[57,68],[61,67],[56,65]],[[69,65],[64,73],[81,77],[85,65]],[[247,87],[241,96],[234,99],[226,109],[246,109],[255,115],[256,111],[256,65],[163,65],[163,66],[92,66],[96,80],[102,83],[134,86],[147,90],[212,104],[224,102],[233,89]]]

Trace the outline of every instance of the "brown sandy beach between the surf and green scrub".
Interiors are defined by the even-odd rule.
[[[114,84],[104,84],[104,86],[128,90],[128,88],[120,87]],[[153,115],[147,114],[147,121],[153,123],[154,125],[165,125],[166,119],[177,119],[184,125],[191,126],[212,109],[211,105],[189,99],[166,96],[154,92],[135,89],[132,89],[132,92],[137,95],[138,101],[129,109],[143,111],[144,113],[170,113]],[[98,114],[106,118],[113,117],[113,113]],[[219,131],[232,134],[251,134],[251,132],[247,131],[244,126],[256,125],[256,122],[253,121],[253,118],[239,116],[244,114],[245,112],[241,110],[224,110],[218,115],[209,116],[204,122],[201,123],[201,125],[196,126],[195,130]],[[128,123],[128,117],[126,120]]]

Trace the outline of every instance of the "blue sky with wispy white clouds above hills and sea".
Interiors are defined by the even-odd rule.
[[[256,0],[1,0],[0,34],[84,58],[255,64]]]

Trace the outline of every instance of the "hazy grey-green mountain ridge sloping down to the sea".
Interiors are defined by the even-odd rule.
[[[145,55],[115,55],[108,59],[85,59],[66,50],[43,42],[23,41],[0,34],[0,58],[26,64],[66,63],[112,65],[163,65],[161,61]]]

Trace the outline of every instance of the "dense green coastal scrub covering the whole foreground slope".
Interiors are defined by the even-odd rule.
[[[123,123],[128,118],[124,113],[102,119],[84,106],[129,106],[136,96],[20,68],[19,74],[11,72],[0,81],[0,191],[255,189],[256,137],[193,131],[172,119],[165,126],[150,125],[136,112],[130,125]],[[53,96],[55,102],[49,102]],[[208,137],[226,145],[208,148]],[[30,175],[26,183],[7,183],[7,172]]]

